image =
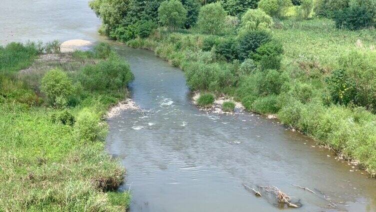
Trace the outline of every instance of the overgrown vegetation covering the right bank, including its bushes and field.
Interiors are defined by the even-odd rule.
[[[158,27],[127,44],[183,69],[192,90],[275,113],[376,173],[375,1],[247,2],[202,1],[189,29]]]

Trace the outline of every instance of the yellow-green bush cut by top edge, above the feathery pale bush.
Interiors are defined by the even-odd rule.
[[[291,0],[260,0],[258,2],[258,8],[272,17],[282,17],[291,5]]]

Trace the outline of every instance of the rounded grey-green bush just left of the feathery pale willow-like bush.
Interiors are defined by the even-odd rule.
[[[197,26],[203,33],[220,34],[225,26],[226,15],[226,11],[219,2],[206,4],[198,13]]]

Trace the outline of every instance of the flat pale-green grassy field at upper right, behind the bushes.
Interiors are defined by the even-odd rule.
[[[376,30],[347,30],[335,28],[334,21],[312,18],[296,21],[282,20],[281,29],[273,29],[276,39],[283,43],[288,62],[310,61],[331,69],[340,55],[357,48],[359,39],[363,47],[376,43]]]

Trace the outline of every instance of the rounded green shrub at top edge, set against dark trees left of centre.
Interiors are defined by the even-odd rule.
[[[165,0],[158,8],[159,22],[173,29],[184,25],[187,11],[179,0]]]

